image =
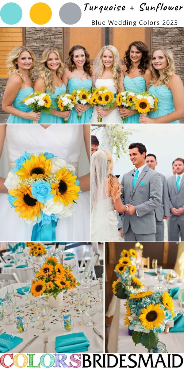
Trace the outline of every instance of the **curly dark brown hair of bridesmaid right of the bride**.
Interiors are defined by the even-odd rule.
[[[125,56],[124,56],[123,60],[125,62],[125,66],[127,68],[126,72],[129,74],[130,73],[130,68],[132,66],[132,61],[130,59],[130,49],[131,49],[132,46],[137,47],[137,49],[140,52],[142,52],[142,57],[141,57],[140,64],[138,65],[138,69],[141,71],[141,74],[145,74],[146,69],[148,69],[148,67],[149,67],[150,54],[149,54],[148,47],[145,45],[144,42],[141,42],[141,41],[132,42],[128,46],[128,49],[125,51]]]

